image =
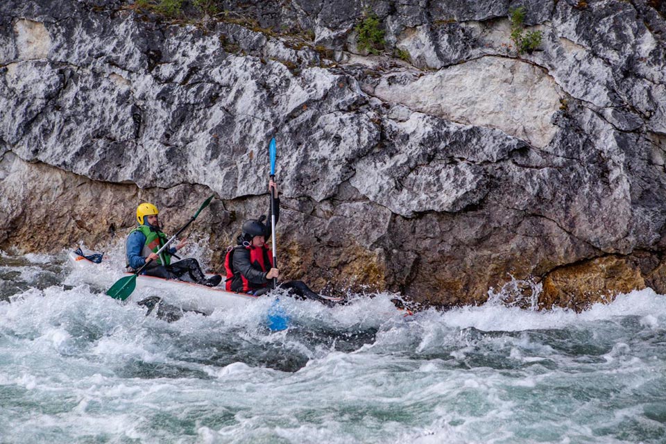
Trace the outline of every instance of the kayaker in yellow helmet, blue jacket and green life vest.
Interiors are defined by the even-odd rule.
[[[194,282],[208,287],[215,287],[222,282],[220,275],[206,278],[198,261],[194,258],[171,262],[171,257],[187,245],[187,239],[182,239],[178,245],[163,251],[159,256],[156,254],[157,250],[160,250],[160,247],[168,240],[160,227],[159,213],[157,207],[152,203],[144,202],[137,207],[138,226],[128,234],[125,240],[127,271],[138,270],[146,263],[146,260],[152,259],[142,274]]]

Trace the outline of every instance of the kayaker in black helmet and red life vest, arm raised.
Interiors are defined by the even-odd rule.
[[[278,184],[273,180],[268,182],[268,191],[273,190],[275,196],[275,224],[280,219],[280,198],[278,197]],[[278,268],[273,267],[273,255],[267,246],[271,237],[271,225],[264,221],[271,220],[271,207],[268,207],[268,216],[246,221],[241,234],[237,237],[237,246],[230,248],[225,257],[224,266],[227,273],[226,289],[237,293],[250,293],[260,296],[271,290],[271,280],[280,277]],[[287,289],[302,298],[330,301],[321,298],[311,291],[300,280],[280,282],[280,288]]]

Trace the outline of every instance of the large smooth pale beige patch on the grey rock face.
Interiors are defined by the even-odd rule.
[[[563,94],[551,77],[533,65],[484,57],[410,79],[385,76],[374,95],[449,121],[497,128],[543,148],[557,127],[552,115]]]

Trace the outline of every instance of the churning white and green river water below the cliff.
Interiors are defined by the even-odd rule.
[[[0,253],[0,443],[665,443],[666,297],[581,314],[271,298],[168,323]]]

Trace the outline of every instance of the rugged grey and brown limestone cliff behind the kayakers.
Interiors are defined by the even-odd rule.
[[[173,229],[214,193],[196,230],[220,270],[275,137],[280,264],[316,289],[666,292],[662,3],[523,2],[543,39],[521,54],[508,0],[219,3],[0,3],[1,248],[108,245],[143,200]]]

